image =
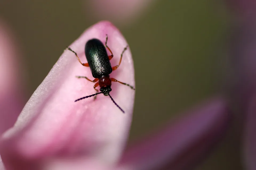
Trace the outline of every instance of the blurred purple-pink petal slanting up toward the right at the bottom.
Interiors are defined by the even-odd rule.
[[[189,111],[175,124],[128,148],[120,169],[192,169],[226,132],[231,114],[216,98]]]

